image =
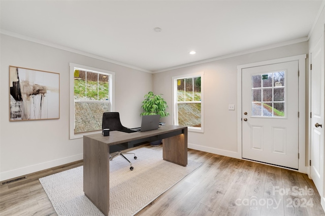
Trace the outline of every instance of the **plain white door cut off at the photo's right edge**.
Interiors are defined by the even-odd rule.
[[[315,48],[311,50],[310,61],[312,64],[311,83],[311,178],[322,196],[323,189],[323,168],[324,168],[324,68],[322,67],[323,39],[317,42]],[[322,126],[315,124],[322,124]]]

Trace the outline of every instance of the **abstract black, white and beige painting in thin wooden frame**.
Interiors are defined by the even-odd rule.
[[[58,119],[60,74],[9,67],[10,121]]]

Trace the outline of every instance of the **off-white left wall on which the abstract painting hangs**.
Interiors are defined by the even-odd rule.
[[[4,34],[0,47],[0,181],[83,158],[83,140],[69,140],[70,62],[115,72],[115,111],[123,125],[140,125],[152,74]],[[9,65],[60,73],[59,119],[9,121]]]

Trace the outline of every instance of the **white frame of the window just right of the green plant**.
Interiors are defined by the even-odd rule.
[[[201,102],[198,101],[177,101],[177,79],[186,79],[194,78],[201,76]],[[181,103],[201,103],[201,127],[191,127],[187,126],[188,131],[190,132],[200,132],[204,133],[204,71],[190,74],[183,74],[179,76],[172,77],[172,92],[173,92],[173,109],[172,109],[172,118],[174,125],[178,125],[178,106],[177,104]]]

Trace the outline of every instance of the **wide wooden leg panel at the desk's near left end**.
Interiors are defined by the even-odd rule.
[[[109,146],[83,138],[83,191],[105,215],[109,212]]]

